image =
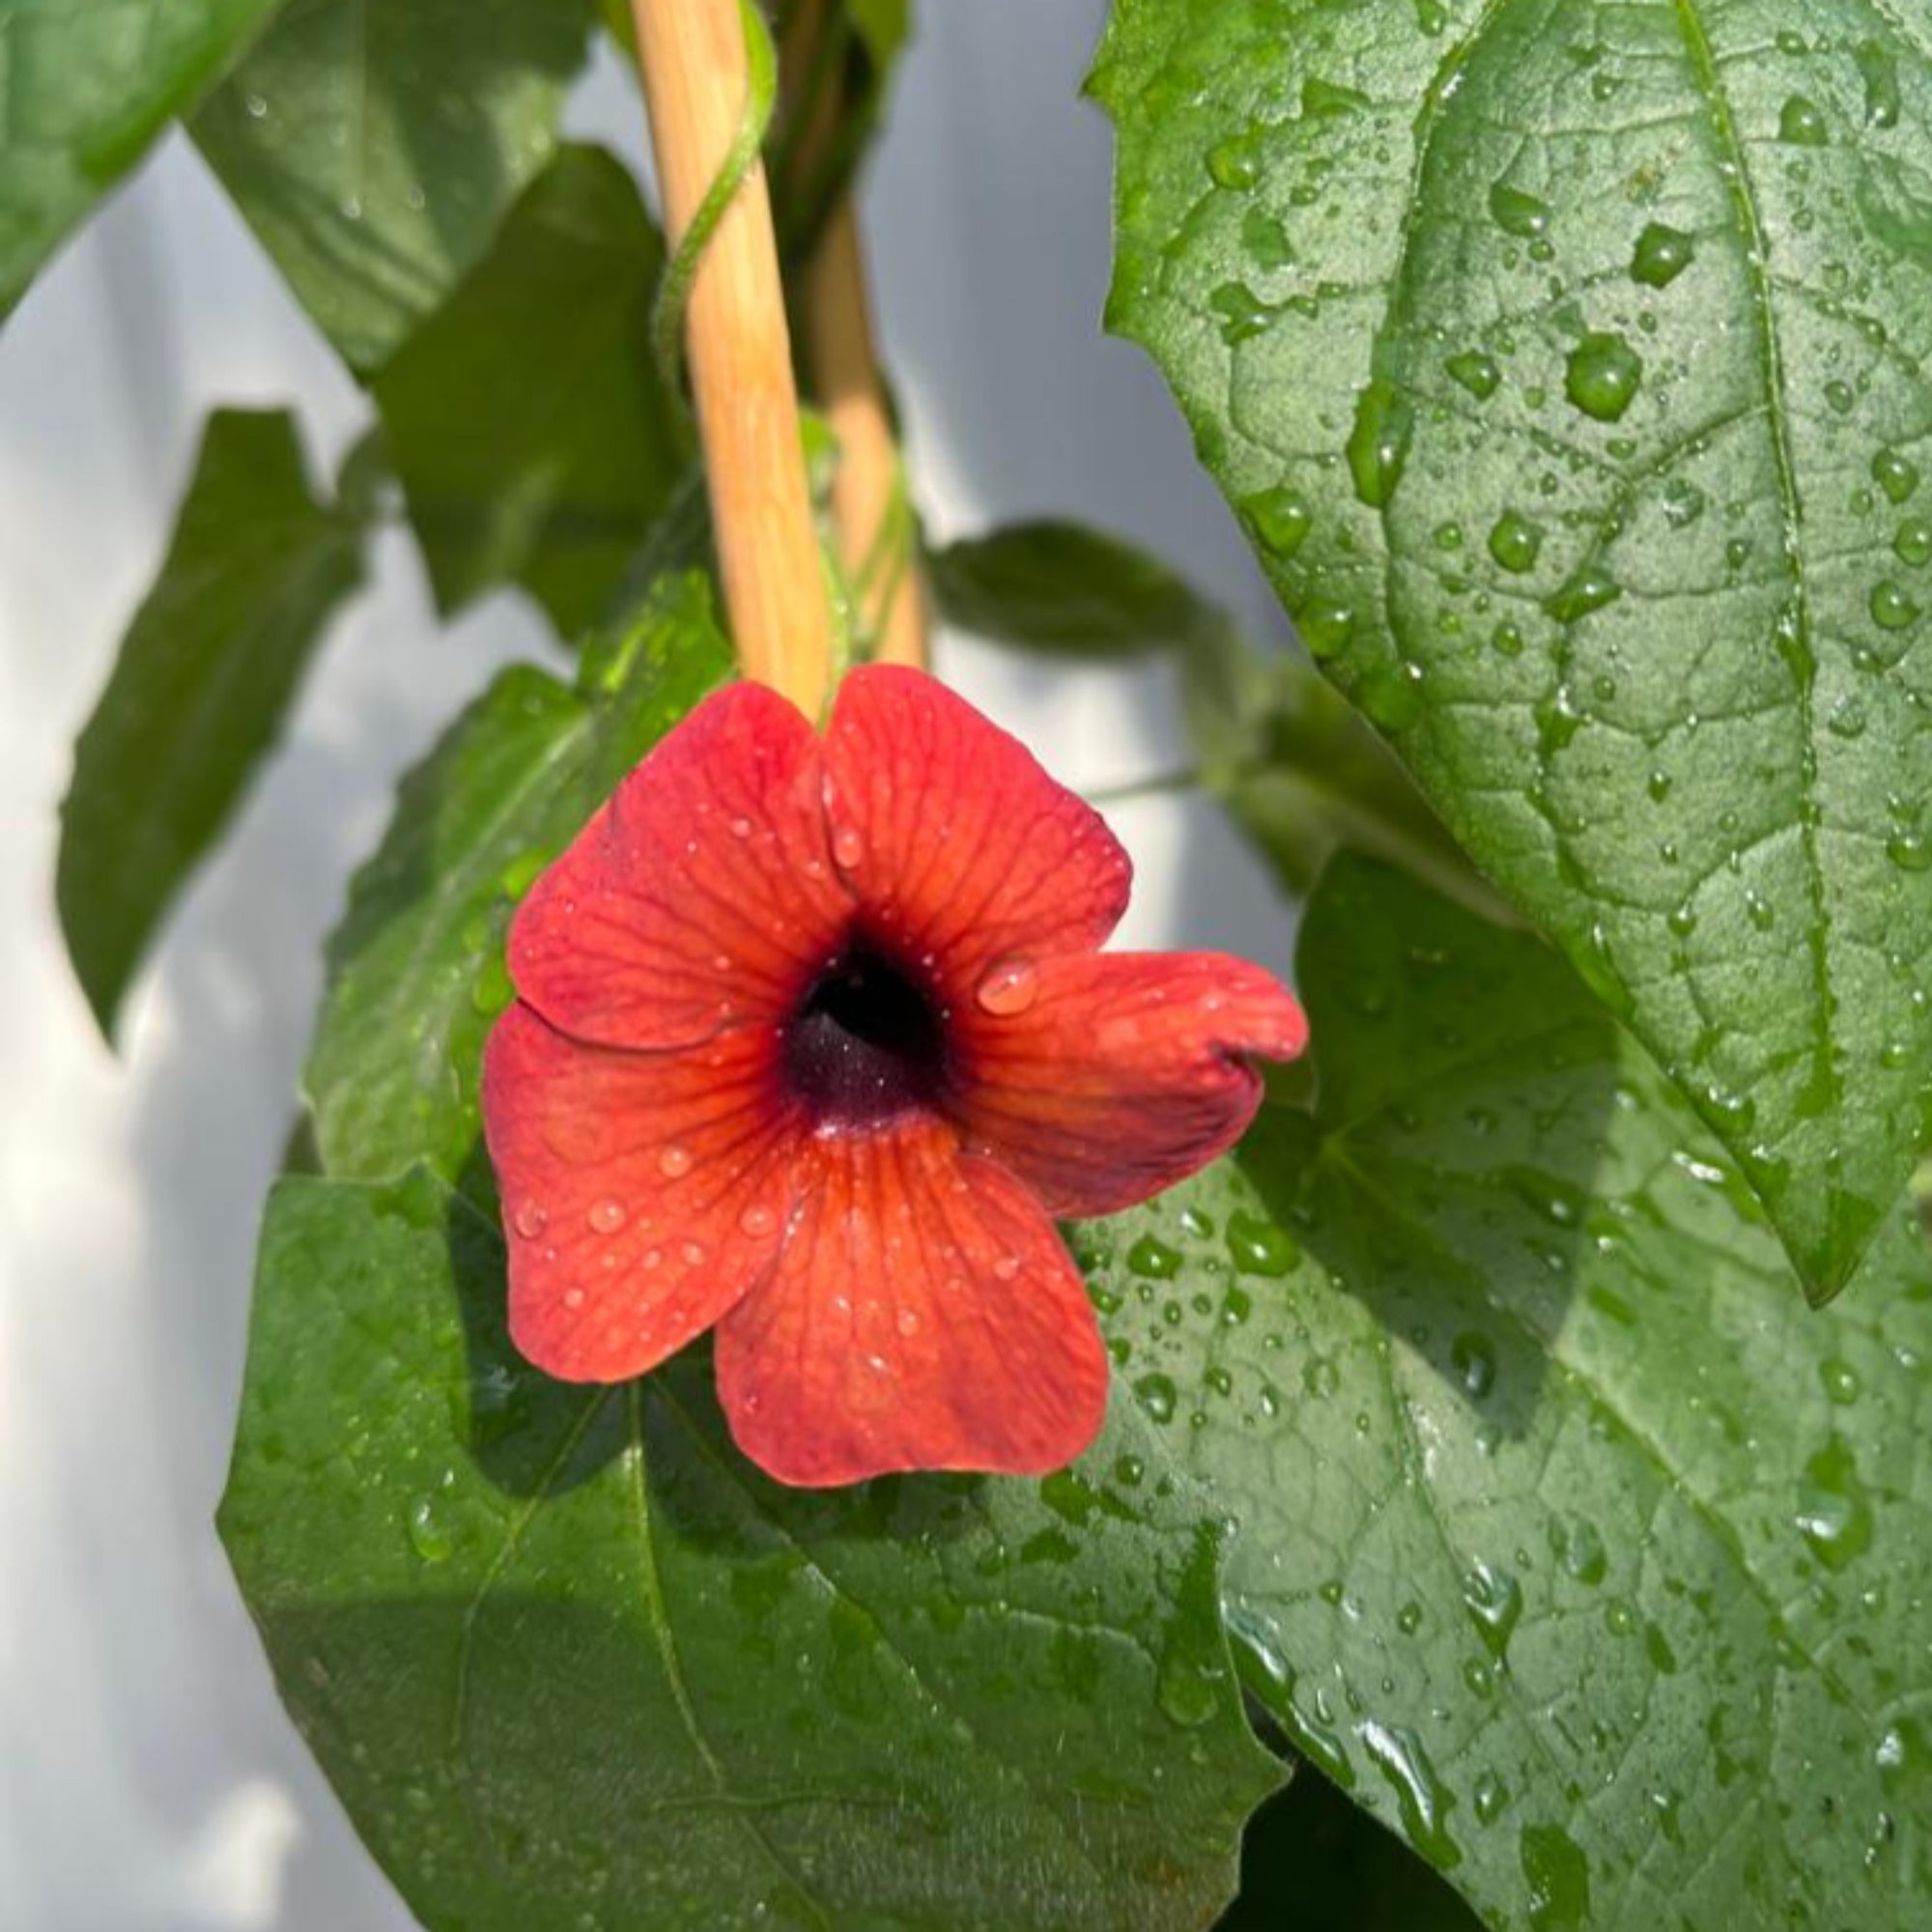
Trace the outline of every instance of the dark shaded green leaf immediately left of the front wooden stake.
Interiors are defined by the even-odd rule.
[[[440,611],[522,583],[564,634],[607,614],[682,473],[651,365],[663,265],[630,174],[566,147],[375,379]]]

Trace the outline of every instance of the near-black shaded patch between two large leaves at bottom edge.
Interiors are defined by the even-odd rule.
[[[1480,1932],[1401,1839],[1302,1766],[1250,1820],[1215,1932]]]

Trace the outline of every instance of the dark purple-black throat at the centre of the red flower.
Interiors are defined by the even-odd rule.
[[[786,1026],[784,1074],[813,1126],[883,1126],[939,1103],[945,1026],[891,956],[856,941],[819,974]]]

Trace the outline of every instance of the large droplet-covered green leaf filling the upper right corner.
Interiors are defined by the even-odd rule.
[[[1111,321],[1808,1287],[1932,1128],[1932,31],[1117,0]]]

